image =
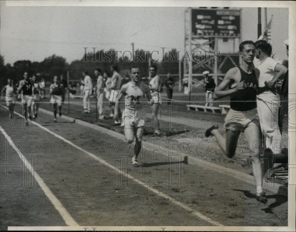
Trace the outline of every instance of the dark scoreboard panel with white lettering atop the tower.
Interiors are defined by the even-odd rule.
[[[192,35],[240,36],[240,10],[192,9]]]

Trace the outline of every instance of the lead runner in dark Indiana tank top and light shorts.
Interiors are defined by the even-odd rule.
[[[229,69],[223,81],[215,88],[214,99],[229,96],[230,106],[224,127],[226,135],[218,130],[218,125],[213,125],[206,130],[205,136],[214,135],[218,145],[228,158],[235,155],[237,141],[241,132],[249,146],[252,157],[252,169],[256,181],[256,190],[252,191],[256,199],[262,203],[267,202],[267,198],[262,188],[262,167],[261,153],[256,146],[262,146],[262,136],[256,107],[256,89],[258,81],[255,75],[253,60],[255,57],[255,43],[247,40],[239,45],[240,67]]]

